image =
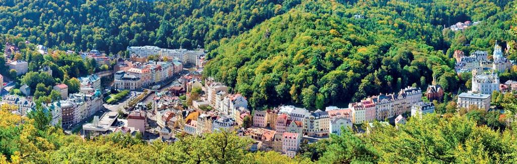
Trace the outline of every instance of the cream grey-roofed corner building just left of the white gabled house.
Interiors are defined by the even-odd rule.
[[[318,109],[306,114],[305,119],[303,120],[303,133],[305,135],[318,137],[328,136],[328,129],[328,112]]]

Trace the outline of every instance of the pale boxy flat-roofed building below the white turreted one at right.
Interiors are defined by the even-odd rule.
[[[458,107],[459,108],[472,108],[473,106],[478,109],[488,111],[490,109],[490,94],[478,94],[478,93],[461,93],[458,95]]]

